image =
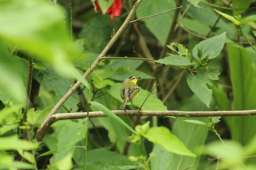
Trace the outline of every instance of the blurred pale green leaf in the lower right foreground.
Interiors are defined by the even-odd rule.
[[[243,148],[240,144],[234,141],[211,142],[204,148],[204,153],[220,159],[232,161],[234,163],[241,162],[243,157]]]

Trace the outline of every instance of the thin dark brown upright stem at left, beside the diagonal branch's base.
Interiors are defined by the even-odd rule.
[[[27,110],[29,109],[30,105],[30,94],[31,94],[31,87],[32,87],[32,78],[33,78],[33,59],[32,54],[29,54],[28,57],[28,77],[27,77],[27,105],[23,112],[23,124],[25,125],[27,122]],[[23,129],[23,138],[26,140],[31,140],[28,134],[28,129]]]

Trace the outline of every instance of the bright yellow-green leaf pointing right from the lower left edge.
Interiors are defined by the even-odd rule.
[[[0,150],[31,150],[36,149],[38,144],[27,140],[18,139],[18,136],[8,136],[0,138]]]

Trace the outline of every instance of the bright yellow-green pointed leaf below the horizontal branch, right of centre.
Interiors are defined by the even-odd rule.
[[[196,156],[166,127],[151,127],[144,137],[154,144],[162,145],[169,152],[192,157]]]

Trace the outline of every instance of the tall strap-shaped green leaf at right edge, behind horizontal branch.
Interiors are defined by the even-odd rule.
[[[229,67],[233,90],[233,110],[256,109],[256,76],[247,50],[238,45],[229,44]],[[256,134],[256,117],[225,118],[232,139],[242,144]]]

